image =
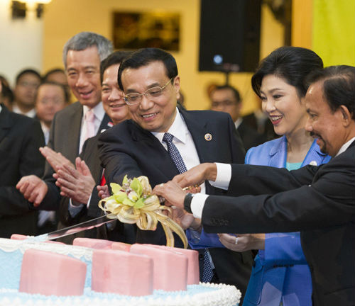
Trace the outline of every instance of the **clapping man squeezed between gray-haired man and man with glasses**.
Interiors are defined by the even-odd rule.
[[[129,55],[131,52],[116,51],[109,55],[105,60],[101,62],[100,73],[102,80],[102,104],[104,110],[109,115],[111,119],[110,125],[116,125],[124,120],[130,118],[129,108],[124,102],[124,93],[119,89],[117,84],[117,72],[119,70],[119,65],[121,62]],[[102,215],[103,211],[97,205],[99,203],[99,195],[97,193],[95,186],[104,185],[105,181],[102,176],[104,169],[101,166],[99,160],[99,150],[97,147],[97,142],[99,135],[89,138],[84,142],[82,147],[82,153],[80,154],[80,159],[85,162],[79,164],[79,169],[72,169],[72,167],[62,166],[60,171],[58,171],[58,181],[61,185],[61,190],[66,191],[69,197],[65,197],[60,202],[60,220],[66,225],[75,225],[80,222],[84,222],[95,217]],[[48,152],[48,158],[51,160],[57,159],[61,164],[67,163],[67,160],[63,157],[58,156],[59,154],[51,149],[46,148]],[[90,179],[89,179],[89,178]],[[85,202],[89,201],[89,205],[82,205],[81,210],[72,212],[70,209],[70,198],[75,196],[77,189],[81,188],[84,193],[86,193],[87,199]],[[93,190],[94,188],[94,190]],[[115,231],[107,232],[107,227],[102,226],[97,229],[91,229],[85,231],[84,237],[90,238],[101,238],[101,239],[112,239],[114,241],[134,243],[135,234],[127,233],[131,226],[126,226],[123,224],[117,225],[120,227],[119,230],[116,228]],[[128,228],[129,227],[129,228]],[[109,226],[111,229],[112,226]],[[107,234],[110,234],[108,237]]]

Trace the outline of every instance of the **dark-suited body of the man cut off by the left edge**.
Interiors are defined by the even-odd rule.
[[[0,237],[36,232],[38,212],[16,190],[16,183],[21,176],[43,174],[45,160],[38,151],[43,145],[38,121],[0,104]]]

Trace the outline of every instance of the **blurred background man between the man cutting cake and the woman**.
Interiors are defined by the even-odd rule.
[[[266,137],[258,134],[256,130],[244,123],[240,115],[241,107],[243,106],[241,96],[239,91],[233,86],[216,86],[209,97],[211,98],[212,111],[224,111],[231,115],[231,119],[234,121],[234,125],[236,125],[236,130],[241,136],[241,141],[246,151],[251,147],[256,147],[266,142]]]

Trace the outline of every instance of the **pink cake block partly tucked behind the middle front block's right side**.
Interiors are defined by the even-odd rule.
[[[131,253],[145,254],[154,261],[154,290],[176,291],[187,288],[187,256],[147,244],[133,244]]]

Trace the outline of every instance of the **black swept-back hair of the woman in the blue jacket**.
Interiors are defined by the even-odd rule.
[[[302,47],[279,47],[264,58],[251,78],[253,91],[260,97],[263,77],[274,74],[297,89],[298,96],[307,92],[305,78],[315,69],[322,69],[322,59],[312,50]]]

